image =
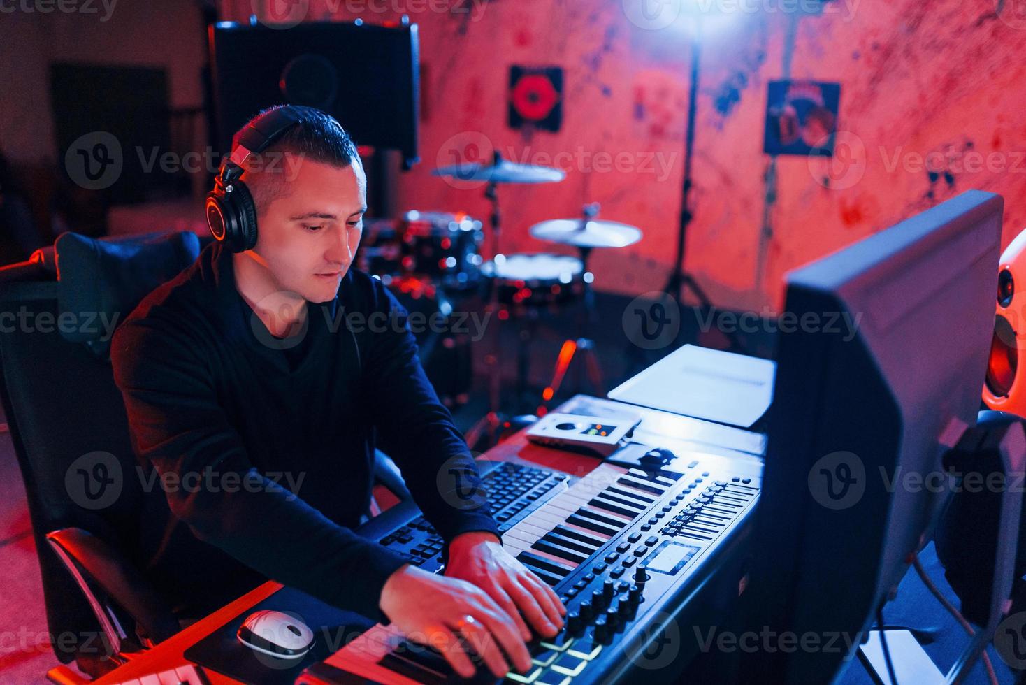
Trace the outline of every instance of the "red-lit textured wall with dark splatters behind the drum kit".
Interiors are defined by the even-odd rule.
[[[471,143],[558,159],[562,184],[502,189],[502,249],[547,249],[527,235],[531,224],[601,202],[603,217],[645,232],[594,257],[596,286],[625,293],[661,287],[673,259],[694,29],[683,8],[740,7],[703,14],[687,266],[716,305],[756,311],[779,306],[786,270],[962,190],[1002,194],[1005,243],[1018,232],[1026,12],[1017,1],[838,0],[799,15],[805,0],[647,0],[669,13],[646,18],[642,0],[290,0],[307,19],[381,23],[405,11],[421,26],[423,162],[400,179],[400,208],[485,216],[479,189],[428,173]],[[226,0],[223,14],[244,19],[267,2]],[[558,133],[507,127],[513,64],[565,70]],[[841,83],[842,133],[832,161],[779,158],[767,201],[766,82],[788,69]]]

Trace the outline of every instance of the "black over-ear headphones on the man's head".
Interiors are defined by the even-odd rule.
[[[305,119],[323,116],[309,107],[286,105],[272,110],[246,126],[231,155],[221,163],[213,190],[206,195],[206,224],[214,239],[233,252],[252,249],[256,244],[256,206],[239,176],[250,155],[259,155],[289,128]]]

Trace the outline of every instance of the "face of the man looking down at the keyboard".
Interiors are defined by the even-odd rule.
[[[366,178],[359,162],[339,168],[285,157],[283,192],[259,207],[252,251],[279,290],[328,301],[360,243]]]

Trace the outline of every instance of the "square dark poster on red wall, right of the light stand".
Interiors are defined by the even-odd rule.
[[[839,83],[771,81],[763,152],[832,157],[839,110]]]

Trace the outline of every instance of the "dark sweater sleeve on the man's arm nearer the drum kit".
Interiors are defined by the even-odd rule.
[[[406,310],[373,281],[377,312],[364,387],[382,448],[395,460],[413,501],[448,543],[460,533],[487,531],[502,538],[491,518],[474,457],[435,394],[417,352]],[[384,323],[382,323],[384,322]]]

